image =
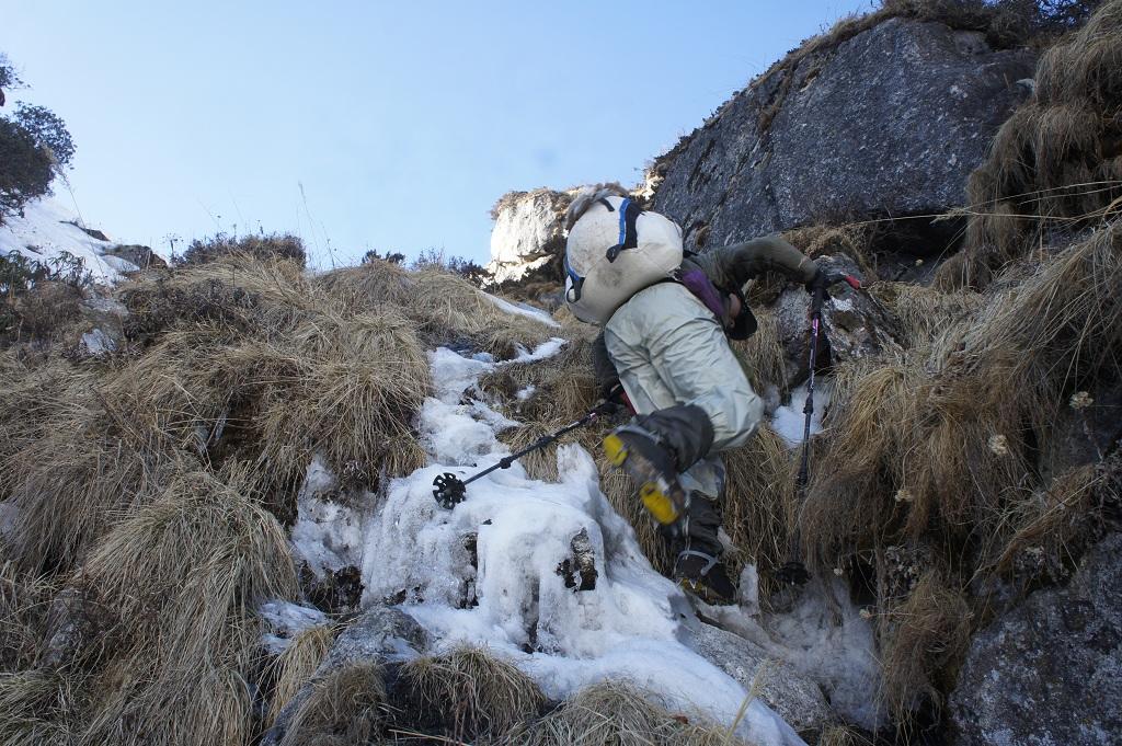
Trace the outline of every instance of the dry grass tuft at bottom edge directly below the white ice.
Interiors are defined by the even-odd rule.
[[[506,744],[525,746],[736,746],[743,744],[695,713],[674,712],[634,684],[606,681],[587,687]]]

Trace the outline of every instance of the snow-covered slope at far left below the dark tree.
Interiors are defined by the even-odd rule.
[[[22,218],[4,218],[0,225],[0,255],[16,251],[47,264],[65,251],[81,259],[99,282],[112,282],[120,273],[137,269],[136,265],[105,254],[117,246],[114,241],[99,240],[79,228],[81,224],[77,214],[59,197],[33,200],[25,205]]]

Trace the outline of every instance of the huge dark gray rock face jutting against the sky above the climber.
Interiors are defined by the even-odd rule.
[[[792,59],[656,160],[654,209],[688,246],[965,204],[1034,66],[978,31],[903,19]]]

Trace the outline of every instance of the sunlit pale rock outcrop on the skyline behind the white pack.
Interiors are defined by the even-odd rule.
[[[573,192],[541,188],[511,192],[491,209],[491,260],[487,271],[496,283],[523,279],[550,265],[564,250],[564,211]]]

